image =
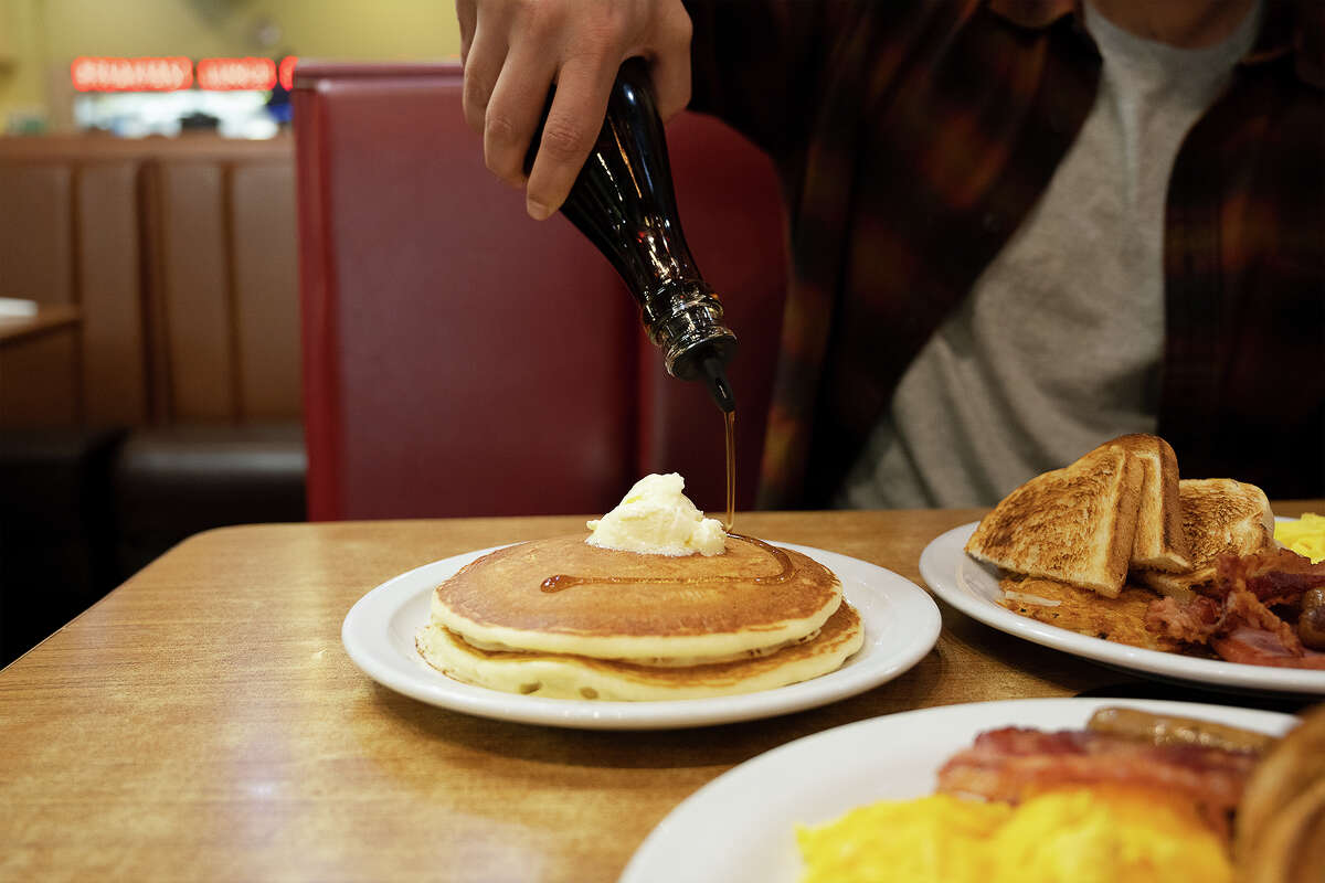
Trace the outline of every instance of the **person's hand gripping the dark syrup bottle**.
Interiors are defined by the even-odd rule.
[[[588,158],[621,62],[649,61],[659,114],[690,101],[690,17],[681,0],[456,0],[465,120],[497,177],[525,187],[537,220],[560,208]],[[525,155],[556,85],[534,165]]]

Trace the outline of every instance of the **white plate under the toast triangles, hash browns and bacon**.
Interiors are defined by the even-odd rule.
[[[1003,597],[998,569],[965,552],[975,526],[977,522],[971,522],[934,537],[920,556],[920,572],[934,594],[984,625],[1047,647],[1161,678],[1227,690],[1325,694],[1325,671],[1249,666],[1129,647],[1012,613],[998,605],[996,600]]]

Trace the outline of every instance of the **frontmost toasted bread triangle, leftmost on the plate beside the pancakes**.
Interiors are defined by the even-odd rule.
[[[1132,560],[1143,471],[1124,445],[1101,445],[1008,494],[980,520],[966,552],[1116,598]]]

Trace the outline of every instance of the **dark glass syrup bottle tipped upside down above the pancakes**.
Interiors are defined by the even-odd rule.
[[[526,173],[542,136],[539,123],[525,158]],[[562,213],[625,281],[668,373],[704,381],[718,408],[735,410],[726,364],[737,338],[722,324],[722,303],[681,233],[662,120],[643,58],[621,65],[603,130]]]

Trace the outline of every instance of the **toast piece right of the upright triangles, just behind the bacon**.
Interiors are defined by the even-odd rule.
[[[1191,568],[1185,573],[1136,573],[1161,594],[1186,601],[1192,586],[1215,579],[1215,559],[1220,555],[1251,555],[1275,541],[1275,512],[1255,485],[1231,478],[1185,478],[1178,482],[1178,498]]]

